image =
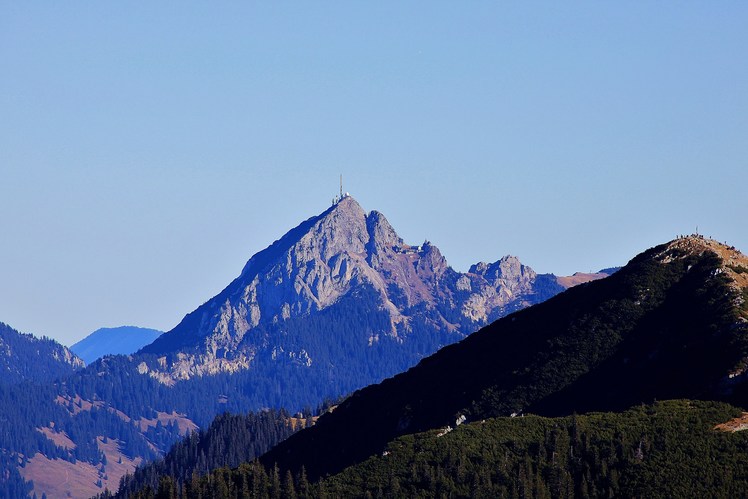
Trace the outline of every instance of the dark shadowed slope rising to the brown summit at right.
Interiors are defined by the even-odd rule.
[[[356,392],[263,456],[310,478],[407,433],[523,412],[620,410],[655,399],[746,403],[748,259],[700,236],[634,258]]]

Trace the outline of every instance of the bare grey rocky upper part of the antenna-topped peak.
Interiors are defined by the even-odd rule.
[[[403,341],[414,320],[459,339],[545,298],[534,295],[536,278],[511,256],[458,273],[438,248],[405,244],[384,215],[367,214],[345,197],[252,257],[221,294],[144,351],[168,353],[170,340],[181,334],[197,339],[199,348],[172,357],[175,378],[246,368],[258,351],[283,347],[254,338],[254,330],[319,313],[362,287],[376,293],[390,323],[370,336],[369,345],[382,337]]]

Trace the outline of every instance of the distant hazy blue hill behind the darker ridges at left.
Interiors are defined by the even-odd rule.
[[[163,332],[135,326],[103,327],[70,347],[86,364],[104,355],[129,355],[161,336]]]

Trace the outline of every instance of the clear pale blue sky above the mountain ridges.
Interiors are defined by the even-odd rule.
[[[0,321],[169,329],[324,210],[458,270],[748,251],[746,2],[0,0]]]

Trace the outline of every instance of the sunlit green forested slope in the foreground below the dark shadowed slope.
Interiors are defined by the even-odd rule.
[[[744,497],[748,432],[729,428],[745,417],[724,403],[674,400],[623,413],[491,418],[400,437],[319,481],[253,462],[181,488],[164,478],[131,497]]]

